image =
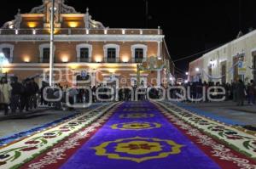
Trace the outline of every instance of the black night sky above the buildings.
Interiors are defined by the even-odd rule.
[[[66,2],[81,13],[89,7],[93,19],[110,28],[146,27],[144,0]],[[9,0],[6,4],[2,3],[2,8],[6,10],[0,10],[0,24],[13,20],[17,8],[21,9],[21,13],[28,13],[41,3],[42,0]],[[256,28],[255,7],[255,0],[148,0],[151,16],[148,27],[157,28],[160,25],[163,28],[170,54],[175,60],[229,42],[236,38],[239,30],[247,33],[249,27]],[[200,56],[176,62],[177,68],[188,70],[189,61]]]

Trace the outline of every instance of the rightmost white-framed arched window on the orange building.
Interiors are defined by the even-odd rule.
[[[142,63],[147,60],[148,46],[136,44],[131,46],[132,62]]]

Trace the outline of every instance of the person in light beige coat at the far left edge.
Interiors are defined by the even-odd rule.
[[[4,115],[8,115],[12,87],[6,77],[0,81],[0,104],[3,107]]]

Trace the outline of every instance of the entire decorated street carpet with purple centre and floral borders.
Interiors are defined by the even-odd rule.
[[[169,103],[110,105],[56,127],[0,148],[0,168],[256,168],[253,135]]]

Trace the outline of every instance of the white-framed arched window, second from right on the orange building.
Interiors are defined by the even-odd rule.
[[[107,44],[104,46],[104,60],[108,63],[119,62],[119,45]]]

